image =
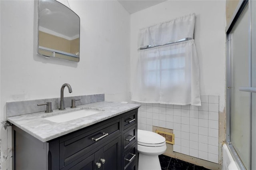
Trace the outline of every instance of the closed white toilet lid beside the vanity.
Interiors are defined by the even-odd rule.
[[[144,146],[162,146],[165,138],[160,134],[138,129],[138,144]]]

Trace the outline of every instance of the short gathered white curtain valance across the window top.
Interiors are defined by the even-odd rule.
[[[166,43],[177,42],[183,38],[192,38],[194,35],[195,14],[189,14],[143,28],[138,34],[138,48],[148,45],[164,45]]]

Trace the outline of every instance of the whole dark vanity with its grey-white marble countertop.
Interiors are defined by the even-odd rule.
[[[48,121],[44,112],[8,117],[13,124],[13,169],[138,169],[140,105],[104,101],[76,110],[84,107],[102,112],[62,123]]]

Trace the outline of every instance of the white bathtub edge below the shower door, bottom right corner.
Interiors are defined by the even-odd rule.
[[[240,170],[226,144],[222,145],[222,170]]]

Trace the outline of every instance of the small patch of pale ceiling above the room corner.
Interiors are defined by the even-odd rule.
[[[154,6],[166,0],[118,0],[130,14]]]

